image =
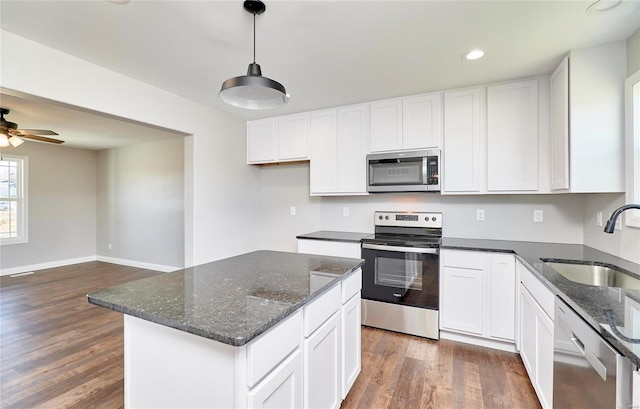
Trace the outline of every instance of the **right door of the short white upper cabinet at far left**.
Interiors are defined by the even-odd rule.
[[[309,159],[309,113],[278,118],[278,160]]]

